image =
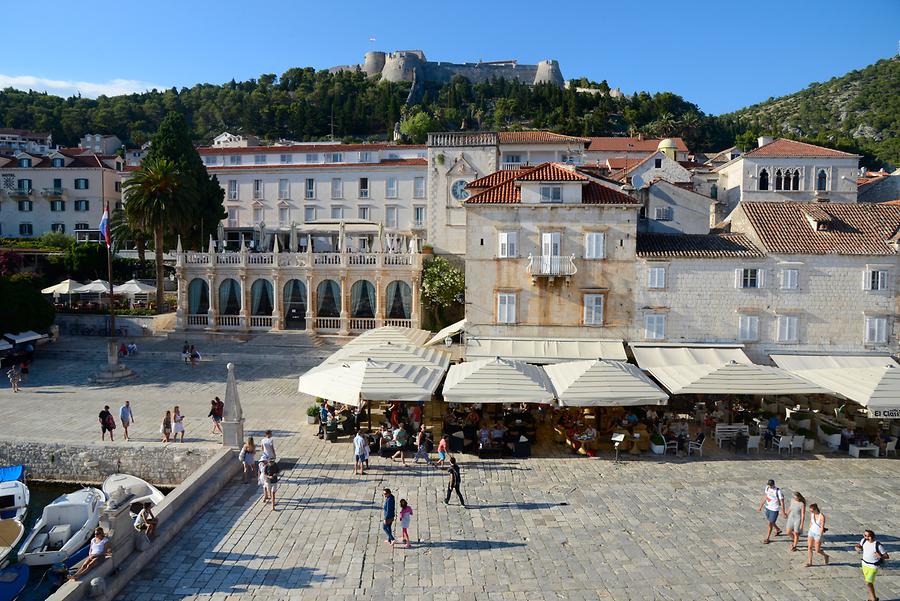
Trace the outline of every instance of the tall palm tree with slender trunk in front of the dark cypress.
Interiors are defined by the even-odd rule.
[[[166,234],[186,225],[193,205],[194,190],[188,180],[166,158],[144,161],[141,169],[125,183],[125,218],[136,231],[153,234],[156,258],[156,310],[165,300],[163,279],[163,245]]]

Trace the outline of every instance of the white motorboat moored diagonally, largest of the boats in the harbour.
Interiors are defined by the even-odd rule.
[[[44,507],[41,519],[19,549],[19,562],[31,566],[64,562],[90,541],[105,501],[103,491],[83,488]]]

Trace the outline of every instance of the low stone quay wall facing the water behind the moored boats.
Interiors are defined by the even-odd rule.
[[[220,450],[198,444],[0,440],[0,465],[21,463],[34,480],[96,484],[111,474],[125,473],[158,486],[175,486]]]

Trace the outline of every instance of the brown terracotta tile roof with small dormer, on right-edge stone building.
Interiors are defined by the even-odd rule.
[[[900,228],[900,205],[742,202],[763,248],[803,255],[893,255],[887,240]],[[810,220],[824,223],[818,230]]]

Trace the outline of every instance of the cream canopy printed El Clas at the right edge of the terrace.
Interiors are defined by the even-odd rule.
[[[900,367],[887,355],[771,355],[778,367],[868,408],[900,418]]]

